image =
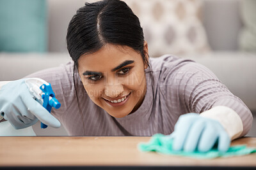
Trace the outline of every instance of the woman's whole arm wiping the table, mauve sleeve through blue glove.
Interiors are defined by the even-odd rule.
[[[252,113],[206,67],[182,62],[173,68],[170,81],[182,113],[175,124],[173,147],[176,150],[207,151],[218,140],[218,149],[226,151],[231,140],[244,136],[252,126]],[[200,113],[200,115],[195,115]]]

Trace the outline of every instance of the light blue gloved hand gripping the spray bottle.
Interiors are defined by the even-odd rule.
[[[33,99],[25,80],[11,81],[0,89],[0,114],[15,129],[29,127],[38,119],[51,127],[60,127],[59,120]]]

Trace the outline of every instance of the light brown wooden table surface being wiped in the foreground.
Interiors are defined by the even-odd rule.
[[[150,137],[0,137],[0,166],[253,166],[256,154],[192,159],[140,152],[138,143]],[[256,148],[256,138],[232,145]]]

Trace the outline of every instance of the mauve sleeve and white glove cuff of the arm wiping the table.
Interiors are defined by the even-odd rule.
[[[183,74],[177,90],[187,113],[201,113],[204,117],[218,120],[228,132],[237,129],[236,132],[229,133],[232,139],[250,131],[253,122],[251,111],[209,69],[189,62],[177,72]],[[214,109],[216,106],[219,109]]]

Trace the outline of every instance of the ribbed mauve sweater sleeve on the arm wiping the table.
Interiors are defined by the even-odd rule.
[[[227,106],[236,111],[243,122],[243,132],[239,137],[250,131],[252,112],[207,67],[185,61],[173,70],[172,80],[177,81],[175,89],[186,112],[202,113],[215,106]]]

